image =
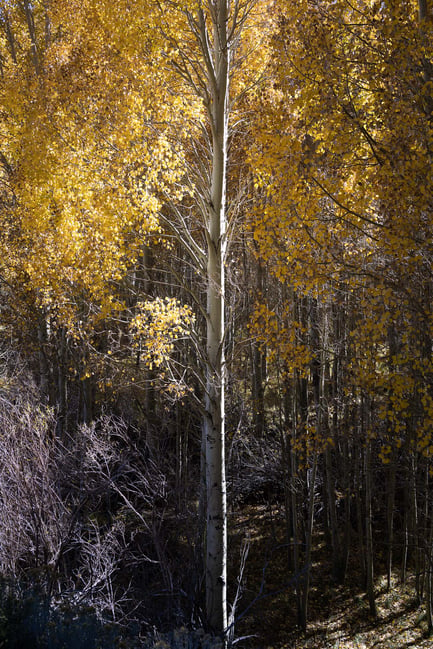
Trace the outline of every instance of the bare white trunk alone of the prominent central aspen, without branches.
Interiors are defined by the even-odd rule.
[[[207,106],[212,133],[207,236],[207,340],[204,436],[206,445],[206,614],[218,634],[227,628],[227,503],[224,451],[224,257],[228,141],[228,2],[209,7],[213,22],[213,84]],[[206,29],[200,12],[202,33]],[[202,42],[205,46],[205,42]]]

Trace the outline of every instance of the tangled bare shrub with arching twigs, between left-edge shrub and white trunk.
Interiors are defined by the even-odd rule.
[[[130,433],[124,422],[105,417],[81,427],[64,455],[64,474],[79,478],[63,496],[80,507],[72,539],[75,594],[116,621],[140,600],[135,577],[143,564],[166,572],[154,524],[164,518],[166,478]]]

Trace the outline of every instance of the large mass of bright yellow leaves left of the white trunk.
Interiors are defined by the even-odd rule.
[[[110,283],[159,233],[163,200],[184,194],[182,145],[169,122],[186,100],[163,73],[156,3],[36,1],[32,9],[39,73],[21,3],[7,7],[15,52],[0,30],[1,152],[14,170],[2,218],[15,227],[4,246],[25,245],[15,272],[40,303],[69,304],[71,319],[85,294],[108,315]]]

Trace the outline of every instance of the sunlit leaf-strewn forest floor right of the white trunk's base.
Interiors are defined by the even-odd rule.
[[[415,599],[413,578],[402,584],[397,573],[387,590],[376,575],[377,618],[369,615],[365,591],[349,575],[343,586],[331,583],[320,531],[312,556],[309,623],[296,626],[294,585],[287,578],[287,546],[282,517],[269,508],[248,507],[232,515],[232,547],[249,537],[249,553],[238,604],[236,637],[242,649],[431,649],[425,611]],[[250,638],[246,638],[251,634]],[[241,639],[244,636],[244,639]]]

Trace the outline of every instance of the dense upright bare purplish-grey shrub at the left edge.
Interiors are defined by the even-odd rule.
[[[52,412],[0,394],[0,570],[48,574],[70,526],[53,463]]]

